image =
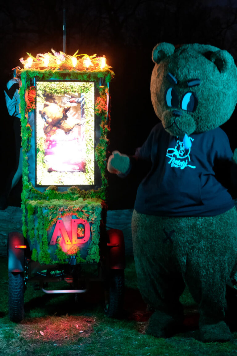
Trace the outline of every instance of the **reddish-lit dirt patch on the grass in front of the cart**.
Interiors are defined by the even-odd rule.
[[[63,345],[79,337],[88,337],[93,333],[95,319],[85,316],[45,316],[44,318],[25,319],[17,329],[25,340],[53,341]]]

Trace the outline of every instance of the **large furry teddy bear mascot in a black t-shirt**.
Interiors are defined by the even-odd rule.
[[[233,155],[220,129],[237,102],[232,56],[210,45],[159,43],[152,52],[151,100],[161,123],[135,156],[114,151],[108,171],[151,168],[136,195],[132,234],[143,299],[155,312],[146,333],[180,330],[187,285],[199,305],[202,341],[227,341],[226,282],[236,272],[237,211],[218,172],[236,184]]]

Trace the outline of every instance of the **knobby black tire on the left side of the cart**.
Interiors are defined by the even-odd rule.
[[[24,318],[24,278],[23,272],[8,272],[8,304],[11,321]]]

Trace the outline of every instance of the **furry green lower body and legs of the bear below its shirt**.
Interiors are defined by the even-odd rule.
[[[224,319],[225,284],[236,263],[235,208],[217,216],[177,218],[134,211],[132,234],[138,286],[146,303],[166,314],[167,320],[176,315],[178,322],[179,297],[186,284],[199,304],[200,328]],[[153,324],[149,333],[158,335],[163,326]],[[211,339],[212,334],[205,333]]]

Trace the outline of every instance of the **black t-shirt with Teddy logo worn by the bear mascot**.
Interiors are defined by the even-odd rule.
[[[192,147],[185,150],[182,139],[169,135],[161,123],[153,127],[135,154],[138,161],[151,161],[138,188],[136,211],[159,216],[214,216],[234,206],[215,173],[218,164],[232,164],[227,135],[218,127],[189,138]]]

